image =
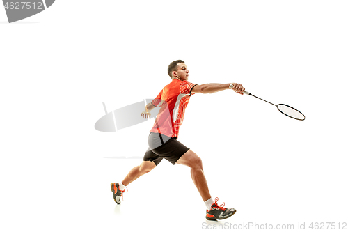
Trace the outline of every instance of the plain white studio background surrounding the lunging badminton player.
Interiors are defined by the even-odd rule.
[[[153,121],[98,132],[108,111],[155,98],[183,59],[191,97],[179,140],[203,159],[223,224],[347,222],[347,1],[56,1],[8,24],[0,8],[1,231],[200,231],[188,167],[166,160],[110,183],[142,156]],[[337,225],[336,225],[337,226]],[[326,226],[325,226],[326,228]],[[346,229],[348,226],[346,227]]]

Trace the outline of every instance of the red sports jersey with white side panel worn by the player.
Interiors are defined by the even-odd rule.
[[[173,79],[165,86],[151,104],[161,109],[150,132],[161,133],[168,137],[178,137],[179,129],[184,120],[185,109],[196,84]]]

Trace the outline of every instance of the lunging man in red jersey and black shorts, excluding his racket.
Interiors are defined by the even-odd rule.
[[[191,149],[187,148],[180,141],[177,141],[180,125],[184,118],[185,108],[189,103],[189,98],[195,93],[216,93],[226,89],[232,89],[236,93],[243,94],[244,87],[241,84],[192,84],[188,82],[189,70],[182,60],[173,61],[168,66],[168,75],[172,81],[165,86],[157,98],[145,106],[141,113],[143,118],[150,117],[150,111],[155,107],[161,109],[155,120],[155,125],[150,130],[148,138],[149,148],[146,151],[143,162],[134,167],[121,183],[111,183],[113,199],[120,204],[120,196],[125,192],[125,187],[145,173],[154,169],[164,158],[172,164],[183,164],[191,168],[191,178],[196,185],[200,196],[202,196],[207,207],[206,219],[226,219],[236,210],[224,208],[217,204],[210,196],[207,180],[203,173],[202,160]]]

